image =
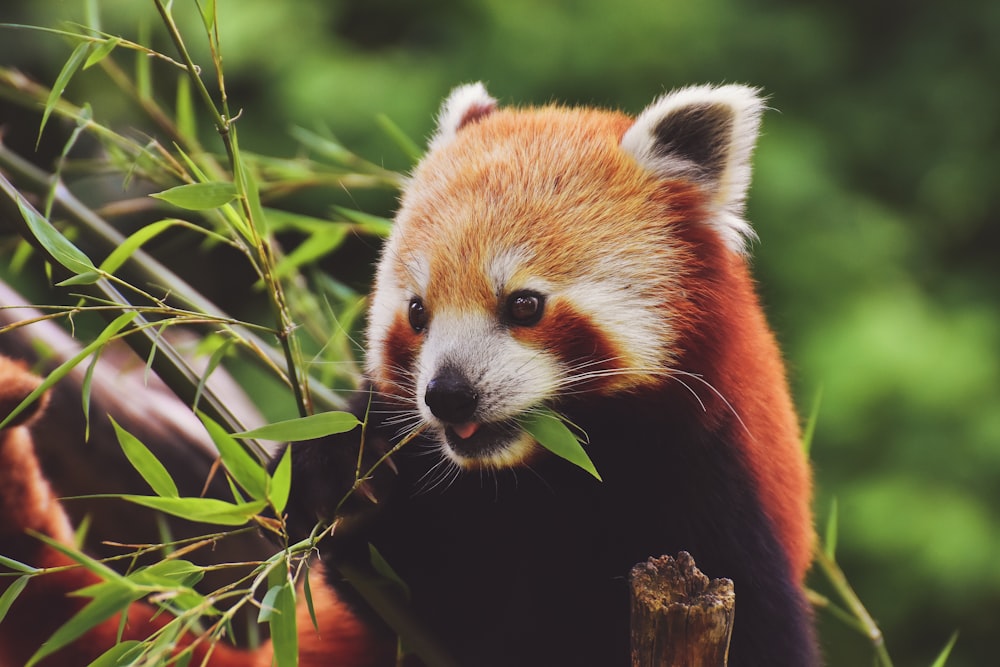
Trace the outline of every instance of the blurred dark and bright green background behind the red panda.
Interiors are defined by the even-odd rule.
[[[83,4],[5,0],[0,21],[55,26],[82,20]],[[136,39],[145,24],[170,51],[152,3],[95,4],[106,30]],[[426,137],[440,99],[471,80],[507,104],[629,112],[689,83],[763,88],[773,110],[749,199],[753,261],[800,411],[822,393],[818,525],[837,498],[838,559],[897,665],[929,665],[955,630],[949,664],[997,664],[1000,3],[219,0],[219,10],[241,141],[274,155],[295,152],[292,126],[327,127],[405,169],[375,115]],[[0,32],[0,65],[45,83],[70,50]],[[74,83],[67,96],[113,127],[138,123],[104,85]],[[0,114],[5,142],[30,151],[37,117]],[[337,196],[385,215],[393,206],[370,193],[296,206],[322,214]],[[363,285],[367,263],[341,259],[333,270]],[[233,293],[252,298],[245,286]],[[870,664],[863,638],[826,616],[821,628],[831,665]]]

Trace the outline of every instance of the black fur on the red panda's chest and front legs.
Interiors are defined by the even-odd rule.
[[[629,569],[686,550],[708,576],[735,582],[731,665],[815,664],[808,607],[732,444],[739,426],[706,431],[696,409],[632,398],[570,415],[603,482],[546,456],[428,488],[434,445],[410,443],[394,457],[398,474],[377,480],[379,509],[326,548],[330,583],[357,602],[336,563],[367,558],[371,543],[459,664],[626,665]],[[293,447],[300,508],[322,466],[337,464],[317,447],[334,451]]]

